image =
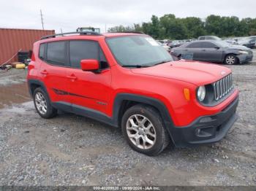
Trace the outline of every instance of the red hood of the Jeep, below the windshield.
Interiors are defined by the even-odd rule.
[[[135,74],[164,77],[189,82],[194,85],[206,85],[230,74],[224,66],[197,61],[172,61],[148,68],[131,69]]]

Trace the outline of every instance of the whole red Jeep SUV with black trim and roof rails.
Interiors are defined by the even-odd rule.
[[[27,79],[41,117],[59,109],[121,127],[146,155],[217,142],[237,119],[230,69],[173,61],[145,34],[56,34],[33,52]]]

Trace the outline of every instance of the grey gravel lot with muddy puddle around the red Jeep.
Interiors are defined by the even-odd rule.
[[[0,185],[256,185],[256,62],[230,68],[240,117],[225,139],[157,157],[85,117],[42,119],[26,71],[0,71]]]

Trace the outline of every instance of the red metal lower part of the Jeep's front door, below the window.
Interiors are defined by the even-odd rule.
[[[108,114],[111,93],[110,69],[102,71],[101,74],[81,69],[68,69],[67,72],[68,75],[77,77],[77,79],[70,79],[67,82],[69,92],[80,95],[69,96],[69,103]]]

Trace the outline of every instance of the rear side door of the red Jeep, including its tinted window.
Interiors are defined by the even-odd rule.
[[[41,44],[39,59],[42,61],[39,78],[44,82],[50,100],[67,103],[67,42]]]

